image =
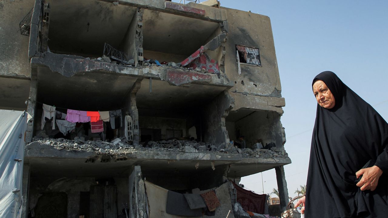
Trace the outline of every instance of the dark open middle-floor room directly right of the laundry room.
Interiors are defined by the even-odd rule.
[[[204,113],[225,87],[190,84],[177,87],[167,81],[144,79],[137,92],[140,141],[190,139],[203,141],[208,125]],[[150,93],[151,91],[151,93]]]

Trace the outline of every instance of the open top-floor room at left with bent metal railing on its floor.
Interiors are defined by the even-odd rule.
[[[136,19],[136,7],[97,0],[46,2],[50,5],[48,46],[51,52],[102,57],[107,43],[128,53],[125,41],[135,37],[135,29],[131,27],[136,25],[132,22]]]

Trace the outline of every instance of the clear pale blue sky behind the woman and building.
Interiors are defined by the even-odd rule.
[[[173,0],[179,2],[179,0]],[[183,0],[182,0],[183,2]],[[201,2],[203,2],[201,0]],[[271,19],[286,107],[284,145],[289,196],[305,185],[317,102],[311,82],[330,70],[388,120],[388,1],[220,0],[222,7]],[[254,25],[254,24],[253,24]],[[386,101],[386,102],[385,102]],[[308,131],[307,131],[308,130]],[[302,133],[304,132],[304,133]],[[302,133],[302,134],[299,134]],[[299,134],[299,135],[298,135]],[[246,176],[241,183],[262,193],[277,188],[275,170]]]

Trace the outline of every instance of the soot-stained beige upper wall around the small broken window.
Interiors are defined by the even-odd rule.
[[[281,97],[274,38],[268,16],[223,8],[227,11],[229,34],[226,42],[225,73],[234,87],[230,92]],[[259,48],[262,67],[241,64],[238,74],[236,45]]]

